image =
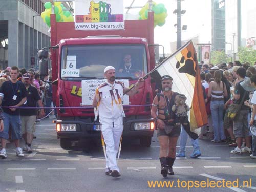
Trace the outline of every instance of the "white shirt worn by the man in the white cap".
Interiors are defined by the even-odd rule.
[[[123,83],[115,82],[112,86],[108,82],[101,84],[99,91],[99,122],[123,124]],[[119,96],[118,96],[119,95]]]

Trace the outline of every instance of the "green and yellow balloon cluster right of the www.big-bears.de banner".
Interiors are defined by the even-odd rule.
[[[145,20],[148,18],[148,2],[141,8],[139,12],[139,19]],[[167,17],[167,9],[164,7],[164,4],[156,4],[152,2],[152,11],[154,12],[154,27],[156,25],[163,26],[165,24],[165,18]]]

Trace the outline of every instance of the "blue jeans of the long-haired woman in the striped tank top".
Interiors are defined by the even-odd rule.
[[[211,101],[210,110],[214,126],[214,140],[220,141],[226,139],[223,129],[224,101]]]

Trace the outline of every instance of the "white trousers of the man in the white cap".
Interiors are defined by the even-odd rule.
[[[106,144],[106,171],[117,170],[117,153],[120,143],[120,138],[123,132],[123,125],[115,125],[103,123],[101,125],[101,131]]]

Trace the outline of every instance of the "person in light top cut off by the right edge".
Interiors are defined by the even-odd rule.
[[[256,89],[256,74],[253,74],[250,78],[251,86]],[[256,126],[256,91],[254,91],[251,103],[253,104],[252,107],[252,114],[250,119],[250,126]],[[252,135],[252,153],[250,155],[251,158],[256,159],[256,135]]]

